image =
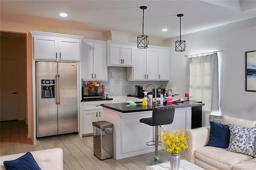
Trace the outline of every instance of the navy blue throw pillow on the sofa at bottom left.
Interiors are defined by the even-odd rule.
[[[6,170],[41,170],[30,152],[16,160],[4,161],[4,168]]]

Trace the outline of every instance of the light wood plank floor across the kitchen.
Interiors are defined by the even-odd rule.
[[[80,138],[78,134],[63,134],[37,139],[37,144],[27,138],[28,127],[24,121],[0,123],[0,155],[9,155],[50,148],[63,149],[64,170],[144,170],[149,166],[145,159],[154,156],[154,152],[132,156],[120,160],[109,158],[99,160],[93,155],[93,136]],[[160,150],[159,156],[169,159],[170,154]],[[181,153],[186,159],[186,151]]]

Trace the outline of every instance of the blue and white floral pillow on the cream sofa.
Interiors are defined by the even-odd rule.
[[[256,127],[242,128],[229,124],[230,142],[226,150],[256,158]]]

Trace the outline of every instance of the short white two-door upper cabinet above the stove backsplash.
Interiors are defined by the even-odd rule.
[[[132,49],[134,44],[107,41],[107,65],[132,67]]]

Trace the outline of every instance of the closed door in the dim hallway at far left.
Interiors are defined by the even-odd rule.
[[[17,60],[1,59],[0,121],[18,120]]]

